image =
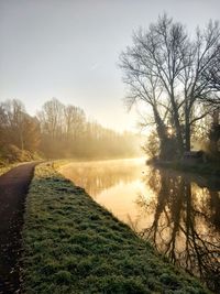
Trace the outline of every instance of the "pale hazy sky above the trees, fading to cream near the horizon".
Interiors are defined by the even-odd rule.
[[[119,54],[165,11],[190,31],[219,19],[220,0],[0,0],[0,101],[21,99],[33,115],[56,97],[132,129]]]

